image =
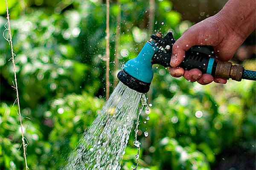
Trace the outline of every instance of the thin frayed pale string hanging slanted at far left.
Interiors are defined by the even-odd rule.
[[[11,33],[11,25],[10,25],[10,17],[9,17],[9,10],[8,10],[8,3],[7,3],[7,0],[6,0],[6,13],[7,13],[7,16],[6,16],[6,19],[7,19],[7,23],[8,23],[8,27],[6,28],[7,31],[9,31],[9,40],[7,38],[5,38],[10,46],[11,46],[11,53],[12,53],[12,64],[13,64],[13,72],[14,72],[14,85],[13,85],[13,88],[15,89],[16,91],[16,100],[15,102],[17,102],[17,105],[18,105],[18,116],[19,116],[19,119],[20,119],[20,129],[21,129],[21,140],[22,140],[22,146],[23,146],[23,157],[25,159],[25,167],[26,167],[26,170],[29,169],[28,167],[28,164],[27,164],[27,159],[26,159],[26,147],[27,147],[27,144],[25,143],[25,137],[24,137],[24,132],[23,132],[23,125],[22,125],[22,118],[21,118],[21,113],[20,113],[20,99],[19,99],[19,91],[18,91],[18,85],[17,85],[17,74],[16,74],[16,67],[15,67],[15,59],[14,59],[14,51],[13,51],[13,46],[12,46],[12,33]]]

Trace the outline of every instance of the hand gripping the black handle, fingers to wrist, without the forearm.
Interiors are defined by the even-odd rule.
[[[183,61],[185,51],[194,45],[211,45],[215,49],[218,60],[228,61],[243,41],[244,38],[223,23],[218,15],[209,17],[190,27],[174,43],[170,62],[172,68],[169,68],[169,72],[173,77],[184,76],[185,79],[191,82],[197,81],[202,85],[212,81],[226,83],[226,79],[213,78],[210,74],[202,74],[198,69],[184,71],[183,68],[177,66]]]

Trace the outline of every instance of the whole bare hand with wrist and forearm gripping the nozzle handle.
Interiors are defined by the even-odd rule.
[[[186,30],[172,47],[170,74],[173,77],[184,76],[187,80],[197,81],[202,85],[212,81],[226,83],[226,79],[213,78],[210,74],[202,74],[198,69],[184,71],[177,66],[183,61],[185,51],[194,45],[211,45],[218,60],[231,59],[256,28],[255,6],[255,0],[229,0],[217,14]]]

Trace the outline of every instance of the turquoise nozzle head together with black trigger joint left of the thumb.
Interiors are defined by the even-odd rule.
[[[136,58],[130,59],[125,63],[123,70],[119,71],[117,75],[122,83],[140,93],[147,93],[149,91],[153,79],[152,65],[170,66],[172,45],[175,40],[171,32],[164,38],[162,36],[163,34],[161,33],[151,35],[154,42],[148,41]],[[164,50],[162,50],[163,48]]]

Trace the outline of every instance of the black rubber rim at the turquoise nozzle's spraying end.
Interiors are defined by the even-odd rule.
[[[139,79],[132,77],[130,74],[125,71],[119,71],[117,78],[128,88],[131,88],[140,93],[147,93],[151,83],[142,82]]]

